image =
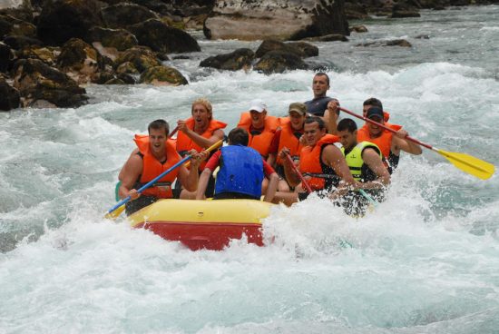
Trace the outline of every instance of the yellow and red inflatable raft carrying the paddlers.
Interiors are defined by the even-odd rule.
[[[269,215],[265,201],[160,200],[134,212],[134,228],[153,231],[169,241],[181,241],[192,251],[221,251],[231,239],[246,235],[249,243],[263,245],[261,220]]]

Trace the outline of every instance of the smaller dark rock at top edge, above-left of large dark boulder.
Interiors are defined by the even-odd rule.
[[[110,28],[126,28],[128,25],[140,24],[151,18],[160,17],[142,5],[119,4],[103,8],[103,19]]]

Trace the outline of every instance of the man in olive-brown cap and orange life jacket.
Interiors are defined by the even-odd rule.
[[[274,168],[279,174],[279,192],[289,192],[289,184],[286,181],[284,166],[278,152],[287,147],[291,158],[298,160],[299,152],[303,147],[300,138],[303,135],[303,125],[306,117],[307,106],[305,103],[289,104],[289,117],[280,119],[280,128],[276,131],[276,135],[270,144],[268,162],[271,166],[275,166]]]

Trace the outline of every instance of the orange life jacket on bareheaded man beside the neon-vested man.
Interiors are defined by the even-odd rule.
[[[324,163],[322,163],[320,155],[324,146],[335,142],[339,142],[338,136],[325,134],[314,146],[305,146],[299,153],[299,172],[312,175],[312,178],[308,180],[308,184],[313,191],[326,188],[326,177],[314,177],[313,175],[330,174],[330,171],[323,170]],[[334,175],[336,173],[333,172],[331,176],[334,177]]]

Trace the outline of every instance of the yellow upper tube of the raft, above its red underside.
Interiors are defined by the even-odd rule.
[[[271,203],[254,200],[160,200],[128,217],[132,227],[144,221],[260,224],[269,216]]]

